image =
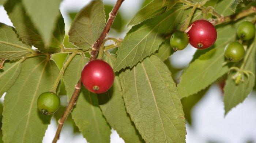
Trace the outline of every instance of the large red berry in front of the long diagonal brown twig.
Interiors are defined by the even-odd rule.
[[[103,60],[89,61],[81,73],[81,80],[87,90],[100,94],[112,87],[114,83],[114,71],[108,63]],[[93,87],[98,86],[98,90]]]

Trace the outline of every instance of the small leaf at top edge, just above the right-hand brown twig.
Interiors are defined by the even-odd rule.
[[[222,0],[216,4],[216,7],[214,9],[221,15],[224,15],[224,16],[231,15],[234,13],[230,8],[233,1],[234,0]]]

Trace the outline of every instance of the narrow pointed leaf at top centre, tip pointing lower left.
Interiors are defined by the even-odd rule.
[[[173,7],[176,4],[174,0],[167,0],[165,3],[163,0],[153,0],[145,7],[140,9],[138,13],[132,18],[128,23],[128,26],[133,26],[142,23],[144,20],[156,17],[166,12],[167,6],[169,8]]]

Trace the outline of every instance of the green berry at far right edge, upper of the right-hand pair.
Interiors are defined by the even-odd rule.
[[[240,23],[237,27],[237,36],[243,40],[250,40],[255,36],[255,25],[249,21]]]

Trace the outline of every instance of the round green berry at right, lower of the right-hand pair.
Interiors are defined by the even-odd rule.
[[[225,47],[225,56],[229,61],[237,62],[244,58],[244,46],[239,42],[231,42]]]

